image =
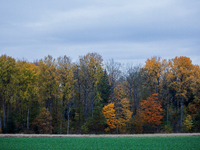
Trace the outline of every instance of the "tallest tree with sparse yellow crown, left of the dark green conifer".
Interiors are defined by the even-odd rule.
[[[95,89],[103,75],[102,62],[102,57],[97,53],[88,53],[86,56],[80,57],[79,60],[82,89],[84,93],[85,121],[87,121],[88,117],[88,108],[90,108],[90,114],[93,116]]]

